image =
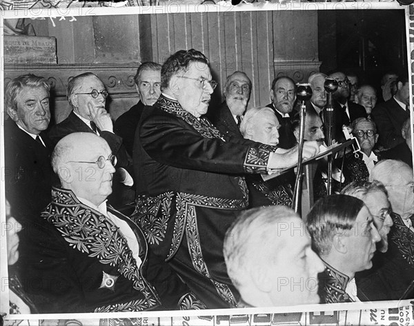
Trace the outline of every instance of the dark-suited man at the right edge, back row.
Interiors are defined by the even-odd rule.
[[[404,143],[401,129],[404,121],[410,117],[410,83],[408,75],[397,79],[397,92],[392,99],[375,106],[372,116],[377,125],[378,145],[388,149]]]

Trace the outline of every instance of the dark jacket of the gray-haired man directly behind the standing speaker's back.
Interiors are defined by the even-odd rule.
[[[115,133],[122,137],[126,151],[131,157],[134,147],[135,130],[137,129],[138,121],[144,107],[144,103],[139,101],[130,110],[119,116],[114,124]]]

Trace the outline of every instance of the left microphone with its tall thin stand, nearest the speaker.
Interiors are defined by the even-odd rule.
[[[303,179],[303,162],[302,152],[304,151],[304,135],[305,135],[305,116],[306,116],[306,104],[305,101],[311,99],[312,90],[309,84],[297,84],[296,96],[300,105],[300,125],[299,125],[299,145],[297,148],[297,174],[295,180],[295,190],[293,191],[293,210],[300,215],[300,198],[302,196],[302,179]]]

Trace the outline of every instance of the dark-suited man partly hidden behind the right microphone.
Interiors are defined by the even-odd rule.
[[[357,118],[365,117],[366,112],[362,105],[348,101],[350,94],[349,90],[349,79],[343,72],[333,72],[329,75],[337,80],[338,88],[333,92],[332,96],[334,99],[334,107],[336,107],[337,112],[342,112],[342,116],[338,116],[337,120],[338,125],[351,125],[351,122]],[[337,141],[339,141],[337,139]]]

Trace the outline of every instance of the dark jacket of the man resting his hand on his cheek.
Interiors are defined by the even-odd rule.
[[[93,132],[86,123],[81,121],[77,115],[72,111],[69,116],[50,128],[49,137],[57,144],[64,136],[72,134],[72,132]],[[129,160],[124,145],[122,145],[122,138],[112,132],[99,131],[100,136],[108,142],[112,154],[117,156],[117,167],[128,167]]]

